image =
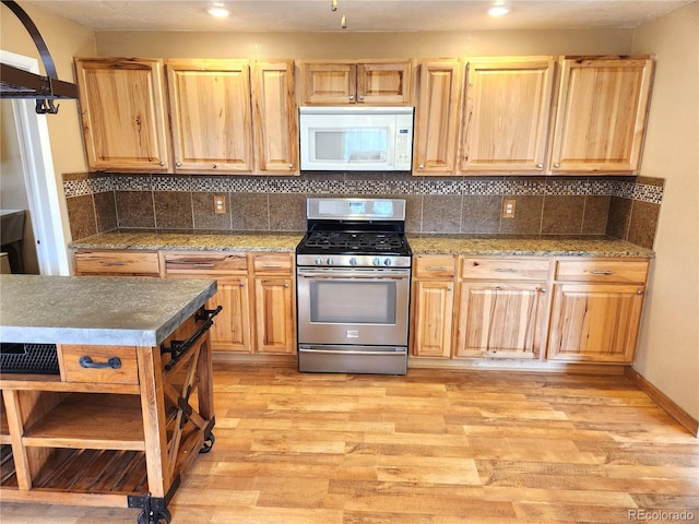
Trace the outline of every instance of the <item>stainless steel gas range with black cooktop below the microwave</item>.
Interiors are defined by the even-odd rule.
[[[404,200],[308,199],[299,371],[406,373],[411,254]]]

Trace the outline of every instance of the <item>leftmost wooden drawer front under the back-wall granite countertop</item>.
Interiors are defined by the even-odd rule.
[[[121,274],[158,276],[161,266],[156,252],[141,251],[79,251],[75,253],[75,274]]]

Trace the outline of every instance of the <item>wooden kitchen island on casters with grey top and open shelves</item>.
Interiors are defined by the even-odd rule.
[[[1,275],[2,500],[170,522],[180,476],[214,440],[215,293],[209,279]]]

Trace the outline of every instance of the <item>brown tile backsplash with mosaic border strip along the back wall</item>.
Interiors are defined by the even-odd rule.
[[[652,248],[663,180],[633,177],[300,177],[75,174],[63,177],[72,238],[111,229],[303,231],[308,196],[407,201],[408,233],[608,235]],[[215,214],[214,195],[226,212]],[[503,218],[503,200],[516,201]]]

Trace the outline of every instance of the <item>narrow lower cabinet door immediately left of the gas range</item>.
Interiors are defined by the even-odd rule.
[[[254,315],[258,353],[296,353],[291,277],[254,278]]]

